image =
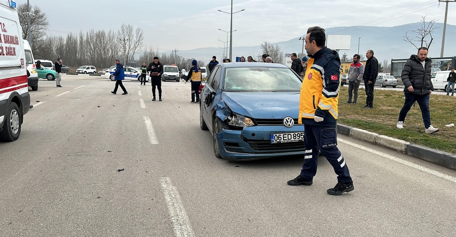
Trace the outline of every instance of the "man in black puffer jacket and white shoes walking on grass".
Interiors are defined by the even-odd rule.
[[[432,60],[427,57],[428,49],[421,47],[418,55],[412,55],[404,65],[400,74],[404,83],[405,103],[399,113],[398,124],[396,127],[404,128],[403,123],[412,105],[418,102],[426,133],[439,131],[431,125],[431,111],[429,110],[429,97],[434,90],[431,81]]]

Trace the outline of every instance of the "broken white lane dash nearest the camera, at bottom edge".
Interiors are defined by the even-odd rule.
[[[171,216],[172,229],[176,237],[194,237],[193,231],[185,212],[184,205],[179,196],[177,189],[172,186],[171,179],[168,177],[161,178],[163,193],[165,194],[166,204]]]

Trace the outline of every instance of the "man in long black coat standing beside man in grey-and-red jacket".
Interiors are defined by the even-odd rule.
[[[372,109],[374,106],[374,84],[378,75],[378,60],[374,57],[374,51],[369,49],[366,52],[366,67],[364,68],[364,88],[366,90],[366,106],[365,109]]]

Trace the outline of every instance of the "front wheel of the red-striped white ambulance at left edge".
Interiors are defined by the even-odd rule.
[[[11,103],[6,110],[6,118],[3,125],[3,131],[0,132],[0,141],[13,142],[19,138],[22,127],[21,119],[22,118],[19,107],[16,103]]]

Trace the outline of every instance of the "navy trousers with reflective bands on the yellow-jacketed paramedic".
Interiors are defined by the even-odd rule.
[[[306,153],[301,177],[313,180],[317,173],[319,153],[329,161],[340,183],[352,182],[345,159],[337,148],[337,133],[333,127],[304,124]]]

